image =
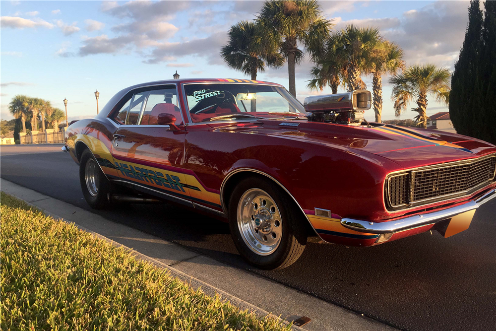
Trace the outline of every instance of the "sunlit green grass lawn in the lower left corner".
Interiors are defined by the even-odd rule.
[[[1,193],[1,330],[289,330]]]

